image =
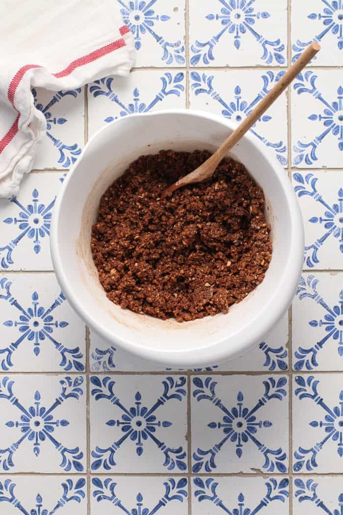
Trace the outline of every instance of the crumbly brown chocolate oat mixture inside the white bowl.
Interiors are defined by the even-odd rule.
[[[225,159],[206,183],[159,198],[209,157],[141,156],[104,193],[92,252],[111,301],[182,322],[227,313],[263,280],[270,227],[263,192],[242,164]]]

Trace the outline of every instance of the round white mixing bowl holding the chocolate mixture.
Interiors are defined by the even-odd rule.
[[[123,310],[106,298],[90,238],[101,195],[140,155],[161,149],[215,150],[233,126],[200,111],[125,116],[98,131],[70,171],[53,212],[51,254],[58,281],[75,311],[107,340],[163,366],[217,365],[259,344],[291,304],[303,262],[296,196],[272,152],[246,135],[231,156],[263,188],[273,256],[263,282],[229,313],[178,323]]]

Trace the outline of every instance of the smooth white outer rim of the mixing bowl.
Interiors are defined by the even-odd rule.
[[[79,302],[79,298],[73,292],[72,288],[69,287],[67,277],[64,272],[62,265],[62,258],[60,255],[59,244],[58,244],[58,233],[59,233],[59,221],[60,212],[63,204],[64,194],[67,190],[69,180],[75,173],[78,166],[82,162],[82,158],[85,156],[87,148],[93,145],[93,142],[98,138],[99,134],[103,131],[110,130],[112,124],[120,124],[127,118],[133,120],[135,117],[158,117],[166,115],[187,115],[193,117],[207,118],[210,121],[214,121],[228,129],[233,130],[236,125],[223,119],[220,115],[208,113],[200,110],[190,109],[166,109],[152,113],[137,113],[131,114],[130,116],[124,116],[119,118],[104,127],[101,127],[96,131],[84,146],[82,153],[76,163],[71,167],[67,177],[63,181],[61,190],[57,196],[53,216],[51,220],[50,228],[50,252],[53,263],[53,268],[56,273],[58,282],[65,294],[69,304],[76,313],[85,321],[89,328],[95,333],[104,338],[105,341],[111,342],[117,345],[122,350],[129,352],[139,358],[146,359],[152,363],[158,363],[164,366],[185,368],[190,367],[203,367],[221,362],[230,361],[234,357],[244,354],[254,346],[258,345],[262,339],[274,328],[276,323],[282,318],[288,307],[291,305],[292,299],[295,295],[296,287],[301,276],[302,265],[303,265],[303,247],[304,247],[304,233],[303,233],[303,222],[300,212],[300,207],[293,191],[290,179],[288,179],[287,171],[282,168],[278,163],[275,156],[265,148],[262,143],[254,138],[251,133],[247,133],[243,136],[244,139],[249,142],[260,152],[264,159],[268,162],[270,167],[275,171],[278,177],[283,193],[286,197],[288,208],[291,217],[291,245],[290,249],[292,252],[288,254],[286,265],[283,270],[283,274],[279,280],[279,287],[273,291],[270,296],[268,303],[264,306],[260,312],[258,319],[252,320],[254,322],[254,328],[251,327],[252,321],[249,322],[238,334],[230,336],[228,338],[219,338],[213,340],[208,346],[202,347],[201,349],[191,350],[164,350],[161,347],[160,351],[149,346],[142,347],[137,345],[134,340],[128,341],[123,340],[116,336],[111,331],[107,331],[101,324],[93,318],[92,314],[84,310],[82,302]],[[279,171],[279,173],[278,173]],[[280,295],[282,291],[282,295]],[[268,313],[267,313],[268,312]],[[251,335],[247,338],[248,331],[251,331]],[[242,334],[243,333],[243,334]],[[253,335],[253,336],[252,336]],[[230,341],[231,340],[231,341]],[[233,341],[232,341],[233,340]],[[227,349],[230,350],[227,353]]]

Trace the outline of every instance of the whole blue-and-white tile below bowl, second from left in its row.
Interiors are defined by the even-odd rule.
[[[91,471],[187,471],[187,378],[91,376]]]

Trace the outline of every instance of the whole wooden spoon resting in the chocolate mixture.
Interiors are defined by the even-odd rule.
[[[221,160],[226,156],[227,152],[240,141],[242,136],[258,121],[263,113],[275,102],[275,100],[285,91],[288,85],[297,77],[301,70],[308,64],[311,59],[319,52],[320,45],[311,43],[299,59],[289,68],[283,77],[275,84],[274,88],[259,102],[254,111],[244,119],[244,121],[235,129],[224,141],[224,143],[208,158],[202,165],[191,171],[182,179],[172,184],[163,194],[161,198],[165,198],[178,188],[186,184],[193,184],[209,179]]]

